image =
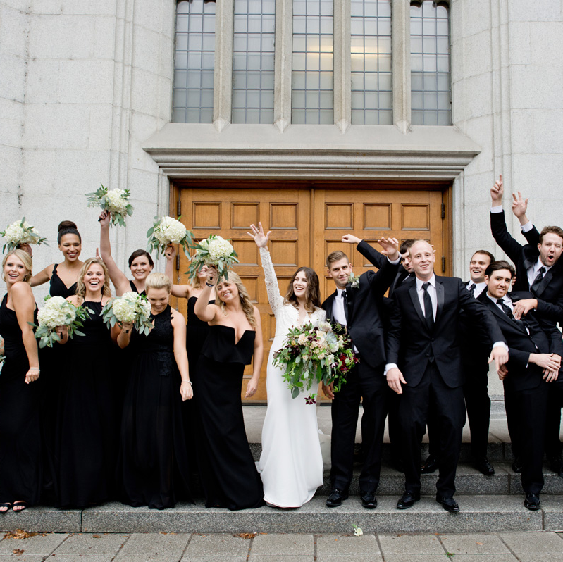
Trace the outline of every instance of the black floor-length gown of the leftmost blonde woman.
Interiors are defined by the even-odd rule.
[[[25,384],[30,368],[16,311],[0,306],[0,334],[4,337],[4,365],[0,372],[0,502],[39,501],[41,436],[39,388]],[[37,322],[37,310],[35,311]]]

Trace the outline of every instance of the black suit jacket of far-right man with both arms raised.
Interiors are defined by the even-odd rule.
[[[490,213],[490,230],[493,232],[495,242],[502,248],[516,267],[516,283],[514,291],[529,291],[527,270],[538,261],[540,251],[538,243],[540,234],[534,227],[525,232],[528,244],[522,246],[509,235],[505,222],[505,212]],[[538,314],[553,322],[563,323],[563,261],[557,263],[544,275],[540,287],[536,292],[538,298]],[[535,298],[531,296],[530,298]]]

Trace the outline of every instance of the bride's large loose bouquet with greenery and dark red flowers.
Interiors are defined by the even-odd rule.
[[[359,362],[349,337],[337,334],[329,322],[307,323],[292,327],[284,346],[273,354],[273,364],[283,369],[283,380],[292,398],[311,387],[334,385],[334,392],[346,382],[348,371]],[[307,396],[307,404],[315,403],[316,393]]]

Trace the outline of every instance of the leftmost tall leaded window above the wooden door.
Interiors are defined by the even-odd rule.
[[[211,123],[214,65],[215,3],[178,2],[173,123]]]

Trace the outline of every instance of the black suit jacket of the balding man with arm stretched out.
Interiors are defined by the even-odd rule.
[[[436,279],[438,309],[433,329],[426,325],[416,282],[397,287],[388,331],[387,362],[402,371],[407,386],[416,387],[429,361],[435,361],[445,384],[450,388],[464,383],[459,313],[478,320],[491,342],[504,342],[493,314],[469,294],[461,279]]]

